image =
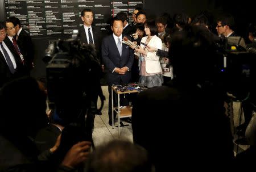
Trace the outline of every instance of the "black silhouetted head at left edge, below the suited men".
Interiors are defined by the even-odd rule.
[[[1,131],[35,136],[46,126],[46,92],[31,77],[6,83],[0,95]]]

